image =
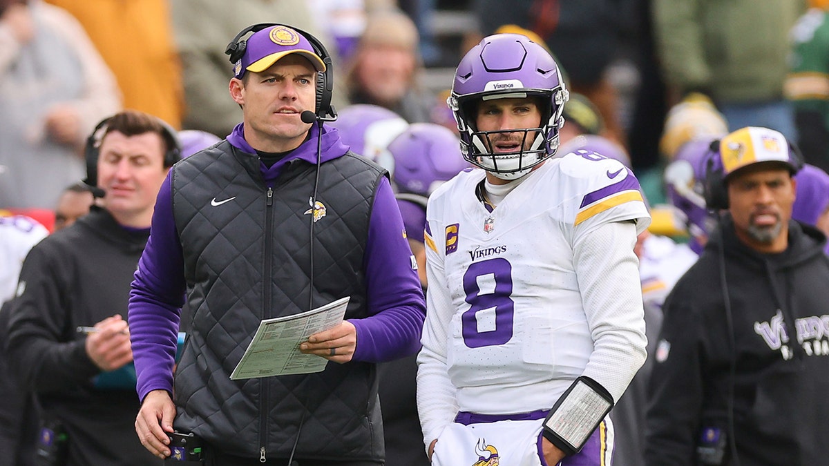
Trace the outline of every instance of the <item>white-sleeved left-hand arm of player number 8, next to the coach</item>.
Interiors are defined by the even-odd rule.
[[[458,414],[458,402],[446,366],[448,329],[454,308],[444,274],[444,256],[435,247],[428,228],[425,239],[428,311],[421,338],[423,349],[418,355],[417,408],[428,449]]]

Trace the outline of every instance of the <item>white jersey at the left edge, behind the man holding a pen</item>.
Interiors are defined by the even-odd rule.
[[[0,216],[0,303],[12,298],[23,260],[49,231],[27,216]]]

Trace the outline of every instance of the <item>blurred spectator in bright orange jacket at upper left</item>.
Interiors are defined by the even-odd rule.
[[[124,108],[181,127],[182,70],[168,0],[46,1],[78,18],[118,80]]]

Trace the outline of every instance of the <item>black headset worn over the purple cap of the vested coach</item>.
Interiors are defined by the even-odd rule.
[[[337,119],[337,110],[335,110],[331,104],[334,90],[334,67],[332,66],[331,56],[325,50],[325,46],[322,45],[322,42],[308,32],[304,32],[302,29],[288,26],[287,24],[281,24],[279,22],[259,22],[258,24],[245,27],[245,29],[241,30],[239,34],[236,34],[233,40],[227,44],[227,48],[225,48],[225,55],[230,56],[230,63],[235,65],[236,62],[241,61],[242,57],[245,56],[248,41],[246,39],[242,39],[242,37],[249,32],[256,33],[274,26],[288,27],[301,34],[308,40],[308,42],[311,43],[314,53],[322,59],[322,63],[325,64],[325,71],[317,72],[317,102],[313,113],[316,119],[320,121],[333,121],[334,119]],[[305,119],[303,119],[303,121],[305,121]],[[305,121],[305,123],[312,122]]]

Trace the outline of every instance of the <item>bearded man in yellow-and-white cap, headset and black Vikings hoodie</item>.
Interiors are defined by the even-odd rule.
[[[790,220],[802,161],[765,128],[712,150],[720,226],[665,303],[647,464],[825,464],[829,259],[826,237]]]

